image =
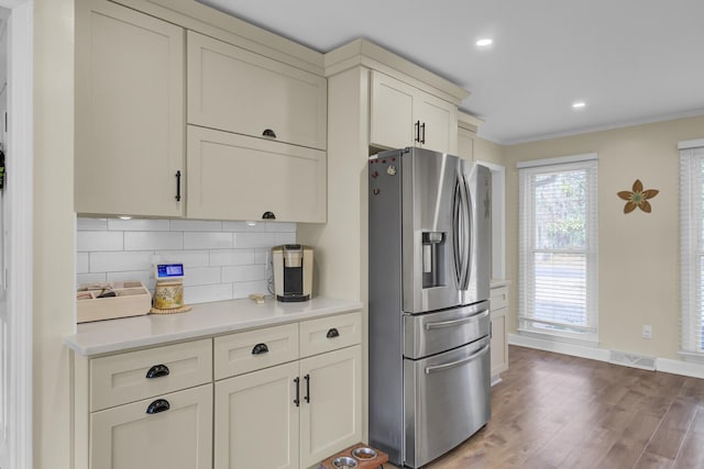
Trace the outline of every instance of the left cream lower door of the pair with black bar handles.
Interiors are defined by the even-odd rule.
[[[296,361],[216,382],[216,469],[298,467],[297,376]]]

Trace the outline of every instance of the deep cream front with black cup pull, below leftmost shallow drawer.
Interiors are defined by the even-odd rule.
[[[90,414],[91,469],[212,466],[212,384],[165,394],[158,400]],[[164,410],[166,405],[168,410]],[[157,412],[147,413],[150,406]]]

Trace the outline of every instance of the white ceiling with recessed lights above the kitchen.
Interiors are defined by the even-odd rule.
[[[497,143],[704,114],[703,0],[198,1],[319,52],[369,38],[469,90]]]

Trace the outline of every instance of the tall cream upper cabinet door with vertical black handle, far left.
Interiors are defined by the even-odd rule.
[[[183,216],[184,108],[183,29],[76,2],[76,212]]]

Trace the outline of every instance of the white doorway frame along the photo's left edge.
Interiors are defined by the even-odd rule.
[[[8,154],[12,152],[8,279],[10,337],[10,466],[32,467],[32,264],[34,1],[0,0],[11,10],[8,35]],[[4,272],[0,272],[4,275]]]

